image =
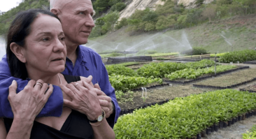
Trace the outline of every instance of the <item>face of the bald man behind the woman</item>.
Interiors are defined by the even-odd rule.
[[[94,22],[93,7],[90,0],[72,0],[60,10],[59,18],[67,45],[86,44]]]

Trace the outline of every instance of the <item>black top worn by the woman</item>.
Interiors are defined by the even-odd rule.
[[[67,83],[80,80],[80,77],[64,75]],[[7,133],[13,119],[4,118]],[[93,130],[87,116],[72,110],[64,122],[61,130],[56,130],[48,125],[34,121],[30,139],[92,139]]]

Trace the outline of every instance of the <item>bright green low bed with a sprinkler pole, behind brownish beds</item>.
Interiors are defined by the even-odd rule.
[[[216,66],[216,73],[231,70],[236,68],[237,66],[231,66],[231,65],[218,65]],[[214,74],[215,73],[215,66],[212,66],[210,68],[203,68],[203,69],[183,69],[178,70],[175,72],[172,72],[171,74],[165,74],[165,78],[168,78],[169,80],[179,80],[179,79],[196,79],[199,76],[202,76],[204,74]]]

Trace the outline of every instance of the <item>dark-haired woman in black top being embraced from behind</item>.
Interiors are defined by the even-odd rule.
[[[80,80],[79,77],[60,73],[65,69],[64,39],[60,20],[48,11],[28,10],[12,22],[6,49],[10,71],[14,77],[31,80],[17,94],[9,90],[8,100],[14,119],[0,118],[0,139],[114,138],[94,93],[89,94],[92,99],[88,101],[95,103],[90,115],[64,107],[60,117],[36,118],[52,93],[52,85],[66,85]],[[50,84],[49,89],[48,84],[43,82]],[[90,84],[82,83],[89,91],[92,89]],[[13,81],[11,86],[15,85],[17,83]],[[73,91],[84,89],[80,84],[70,86]],[[65,94],[63,97],[70,100]]]

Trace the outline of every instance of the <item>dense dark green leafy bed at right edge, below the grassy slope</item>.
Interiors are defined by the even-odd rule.
[[[222,63],[240,63],[245,61],[256,60],[256,51],[255,50],[242,50],[242,51],[234,51],[224,54],[220,57],[219,62]]]

